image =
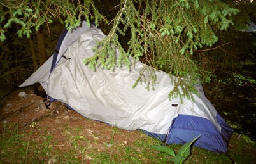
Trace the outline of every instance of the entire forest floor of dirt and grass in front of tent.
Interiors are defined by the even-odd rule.
[[[23,95],[21,95],[22,92]],[[159,156],[157,151],[153,151],[149,145],[160,144],[160,142],[138,130],[117,129],[106,123],[89,120],[76,111],[66,108],[64,103],[53,102],[49,108],[46,108],[45,103],[45,99],[36,96],[32,89],[19,89],[0,101],[1,142],[10,144],[10,140],[3,139],[8,133],[6,125],[17,126],[18,140],[21,137],[25,140],[25,142],[18,141],[20,146],[25,146],[25,155],[21,153],[22,157],[15,160],[17,163],[36,163],[37,161],[39,163],[42,161],[45,163],[60,163],[60,161],[65,163],[119,163],[121,161],[166,163],[164,161],[171,159],[167,156]],[[239,137],[239,134],[233,135],[229,143],[230,155],[236,161],[246,160],[245,163],[253,163],[256,160],[255,144],[242,142]],[[17,148],[18,144],[14,144],[12,149]],[[51,150],[46,149],[49,146]],[[172,148],[177,152],[181,147]],[[18,147],[18,149],[21,148]],[[3,159],[0,159],[0,163],[13,163],[13,158],[19,156],[17,151],[17,149],[13,151],[4,148],[1,143],[0,158]],[[38,154],[39,151],[40,154]],[[42,154],[43,151],[46,153]],[[71,151],[73,155],[68,154]],[[193,151],[187,163],[227,163],[227,161],[232,163],[226,155],[218,155],[201,148],[195,148]],[[64,159],[63,156],[58,158],[57,156],[61,154],[68,159]],[[100,155],[101,159],[95,160],[95,154]]]

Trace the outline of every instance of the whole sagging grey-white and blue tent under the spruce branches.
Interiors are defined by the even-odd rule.
[[[201,85],[194,101],[169,99],[173,89],[166,72],[157,71],[154,90],[146,84],[132,85],[145,66],[136,61],[131,70],[96,68],[82,63],[94,55],[96,42],[106,37],[103,32],[82,22],[71,31],[64,30],[55,53],[20,85],[39,82],[50,98],[62,101],[84,117],[99,120],[125,130],[142,130],[167,144],[185,144],[201,134],[194,146],[227,152],[233,130],[204,96]],[[118,51],[117,51],[118,55]]]

